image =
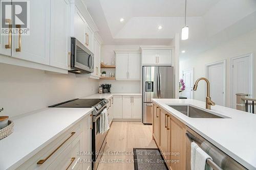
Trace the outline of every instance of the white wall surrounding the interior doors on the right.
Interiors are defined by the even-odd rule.
[[[246,26],[245,26],[246,27]],[[217,47],[212,48],[200,55],[186,56],[180,58],[180,78],[182,78],[182,70],[194,68],[194,82],[205,77],[205,64],[227,60],[226,67],[226,106],[230,106],[230,58],[252,53],[254,56],[253,66],[256,65],[256,30],[246,33],[238,38],[229,40]],[[256,69],[253,70],[253,75],[256,75]],[[255,76],[254,76],[255,77]],[[253,80],[254,97],[256,92],[256,79]],[[205,101],[205,85],[199,83],[198,90],[194,91],[194,99]]]

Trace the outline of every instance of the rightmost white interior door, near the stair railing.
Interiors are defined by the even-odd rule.
[[[251,56],[231,59],[231,107],[236,108],[236,93],[252,95]]]

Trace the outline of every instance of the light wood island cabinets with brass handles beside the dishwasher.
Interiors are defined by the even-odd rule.
[[[152,134],[168,168],[185,170],[186,126],[154,104]]]

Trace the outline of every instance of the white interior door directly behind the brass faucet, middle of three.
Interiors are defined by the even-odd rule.
[[[225,106],[225,74],[225,61],[206,65],[206,78],[210,82],[211,100],[220,106]]]

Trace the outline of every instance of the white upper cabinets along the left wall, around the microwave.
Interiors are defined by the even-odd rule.
[[[67,74],[71,37],[94,53],[98,29],[81,0],[33,0],[28,15],[29,34],[23,25],[12,23],[12,16],[5,18],[7,34],[0,33],[1,63]]]

